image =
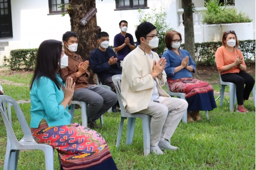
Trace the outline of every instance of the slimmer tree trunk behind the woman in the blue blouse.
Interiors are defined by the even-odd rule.
[[[191,6],[192,0],[182,0],[182,3],[183,3],[182,4],[183,9],[184,9],[184,32],[185,32],[184,33],[184,36],[185,36],[184,49],[189,52],[194,62],[196,62],[193,12],[187,13],[187,11],[185,10],[186,8]],[[193,77],[195,79],[200,79],[197,75],[197,71],[195,71],[195,74],[193,74]]]

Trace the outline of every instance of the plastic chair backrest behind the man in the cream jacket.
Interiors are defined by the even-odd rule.
[[[129,114],[129,113],[126,113],[123,107],[122,94],[121,94],[121,78],[122,78],[122,75],[115,75],[115,76],[112,76],[112,81],[116,87],[116,95],[117,95],[118,103],[121,110],[121,116],[125,116],[126,114]]]

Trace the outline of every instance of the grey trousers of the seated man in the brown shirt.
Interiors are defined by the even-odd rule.
[[[74,91],[73,99],[88,104],[88,122],[92,122],[116,104],[117,95],[113,91],[94,85]]]

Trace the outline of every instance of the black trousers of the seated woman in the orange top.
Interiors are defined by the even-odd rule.
[[[244,104],[243,99],[244,100],[249,99],[249,95],[254,86],[255,80],[247,72],[240,71],[239,73],[226,73],[221,75],[221,79],[223,82],[231,82],[236,84],[238,105]]]

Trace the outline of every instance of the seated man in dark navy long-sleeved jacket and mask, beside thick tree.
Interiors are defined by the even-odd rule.
[[[94,49],[89,57],[89,62],[94,73],[96,73],[103,85],[112,87],[115,92],[115,85],[112,76],[121,75],[122,67],[120,60],[117,59],[115,52],[109,46],[109,34],[101,32],[98,34],[97,43],[99,47]],[[116,112],[116,105],[112,107],[112,111]]]

